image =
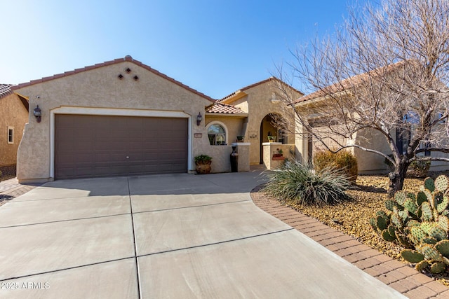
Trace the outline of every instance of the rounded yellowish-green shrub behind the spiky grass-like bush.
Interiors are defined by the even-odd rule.
[[[339,151],[337,153],[318,151],[314,155],[314,166],[316,172],[321,172],[323,169],[328,168],[340,169],[351,183],[356,183],[358,174],[357,159],[348,151]]]

